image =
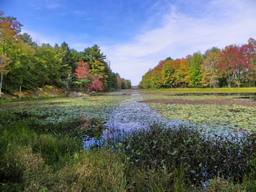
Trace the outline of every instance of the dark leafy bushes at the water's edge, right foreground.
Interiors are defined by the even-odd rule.
[[[254,174],[255,134],[203,136],[194,126],[168,127],[153,124],[145,130],[126,133],[112,142],[136,167],[175,169],[183,167],[186,184],[200,184],[216,175],[242,181]]]

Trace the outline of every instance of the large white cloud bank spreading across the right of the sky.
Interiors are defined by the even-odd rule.
[[[176,5],[177,6],[177,5]],[[256,2],[215,0],[206,6],[204,17],[181,13],[174,6],[163,15],[162,26],[135,35],[133,41],[104,47],[114,72],[139,84],[149,68],[167,56],[181,58],[215,46],[244,44],[255,38]]]

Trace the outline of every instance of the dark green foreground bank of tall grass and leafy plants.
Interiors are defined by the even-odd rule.
[[[81,123],[41,124],[37,117],[2,113],[0,190],[255,190],[254,133],[232,142],[237,136],[212,140],[192,126],[154,124],[108,141],[106,150],[84,151]]]

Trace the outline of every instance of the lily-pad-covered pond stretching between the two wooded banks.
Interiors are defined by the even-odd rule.
[[[105,122],[108,130],[130,131],[145,128],[150,123],[161,122],[168,125],[194,123],[215,133],[239,133],[255,131],[256,106],[251,100],[254,95],[255,93],[180,94],[172,90],[123,90],[104,93],[101,96],[9,102],[0,105],[0,111],[28,114],[51,123],[86,117],[89,120]],[[178,99],[181,102],[189,102],[142,102],[150,99]],[[203,105],[206,101],[209,103]],[[223,105],[212,104],[212,101]],[[227,105],[230,102],[231,104]],[[245,105],[237,105],[239,102]]]

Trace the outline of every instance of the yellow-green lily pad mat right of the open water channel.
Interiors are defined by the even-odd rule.
[[[183,90],[183,89],[179,89]],[[200,89],[203,90],[203,89]],[[209,90],[209,89],[208,89]],[[211,89],[213,90],[213,89]],[[224,90],[223,88],[219,90]],[[227,89],[230,90],[230,89]],[[240,88],[240,90],[253,90]],[[195,92],[196,90],[191,90]],[[255,91],[255,89],[253,90]],[[253,92],[249,91],[249,92]],[[142,99],[219,99],[219,100],[242,100],[239,95],[181,95],[175,96],[174,92],[161,90],[142,90]],[[186,92],[188,93],[188,92]],[[231,93],[231,92],[230,92]],[[246,100],[245,100],[246,101]],[[249,101],[249,99],[247,100]],[[208,126],[213,132],[219,131],[256,131],[256,108],[245,105],[190,105],[190,104],[164,104],[152,102],[148,105],[163,117],[169,120],[192,121],[198,126]]]

